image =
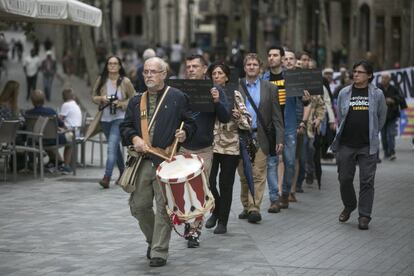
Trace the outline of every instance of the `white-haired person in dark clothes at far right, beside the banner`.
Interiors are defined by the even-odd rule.
[[[400,117],[401,96],[398,89],[391,85],[391,75],[388,72],[381,74],[381,84],[378,86],[385,96],[387,103],[387,119],[381,130],[382,149],[384,158],[395,160],[395,136],[397,136],[397,121]]]

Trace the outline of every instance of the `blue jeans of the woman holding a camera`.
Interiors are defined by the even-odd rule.
[[[119,172],[122,173],[125,168],[124,159],[121,153],[121,133],[119,132],[119,125],[123,120],[117,119],[111,122],[101,122],[103,133],[108,141],[107,160],[105,167],[105,176],[111,178],[114,169],[115,161],[118,165]]]

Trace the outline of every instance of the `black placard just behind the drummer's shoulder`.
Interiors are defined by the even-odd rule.
[[[214,112],[213,98],[210,93],[213,87],[211,80],[169,79],[167,84],[188,95],[193,111]]]

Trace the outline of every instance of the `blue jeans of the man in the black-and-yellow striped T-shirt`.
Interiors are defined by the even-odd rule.
[[[292,188],[292,180],[295,175],[295,154],[296,154],[296,130],[285,134],[285,144],[283,147],[283,163],[285,173],[283,175],[282,195],[289,195]],[[277,186],[277,166],[279,156],[267,157],[267,185],[269,188],[269,199],[274,202],[279,199],[279,188]]]

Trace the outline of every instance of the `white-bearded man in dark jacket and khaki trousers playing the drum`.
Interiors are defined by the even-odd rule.
[[[156,168],[163,160],[148,153],[148,150],[150,146],[166,149],[173,144],[175,138],[179,142],[189,140],[196,131],[196,125],[191,117],[188,97],[180,90],[173,87],[168,89],[165,85],[167,64],[162,59],[153,57],[146,60],[143,75],[148,87],[146,110],[141,110],[142,94],[132,98],[120,131],[123,145],[132,145],[135,151],[143,154],[137,172],[136,189],[130,196],[129,206],[148,243],[149,265],[157,267],[164,266],[167,262],[171,223],[164,195],[156,180]],[[161,101],[161,108],[156,113],[156,107]],[[148,145],[144,141],[143,135],[146,134],[143,133],[145,129],[143,131],[141,121],[147,119],[149,122],[153,116],[153,127],[148,128]],[[184,126],[179,130],[181,122],[184,122]],[[154,198],[155,214],[152,208]]]

